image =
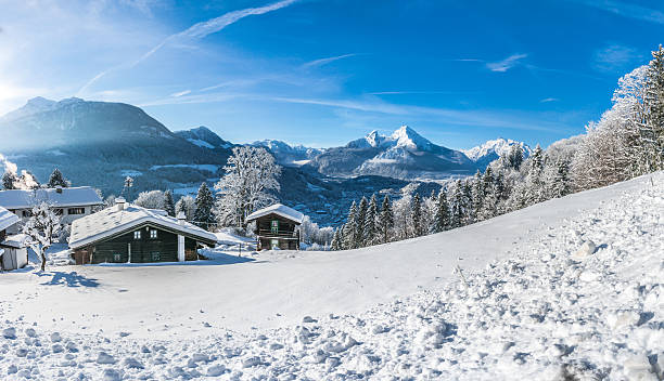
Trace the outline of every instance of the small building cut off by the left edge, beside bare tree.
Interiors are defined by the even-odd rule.
[[[24,234],[8,235],[21,219],[9,210],[0,207],[0,270],[22,268],[27,264],[26,236]]]

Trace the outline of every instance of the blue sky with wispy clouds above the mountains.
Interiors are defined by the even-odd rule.
[[[0,0],[0,114],[126,102],[171,130],[467,148],[578,134],[662,40],[662,2]]]

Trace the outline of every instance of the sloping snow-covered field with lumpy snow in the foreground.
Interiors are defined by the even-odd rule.
[[[662,380],[663,184],[345,252],[0,274],[0,375]]]

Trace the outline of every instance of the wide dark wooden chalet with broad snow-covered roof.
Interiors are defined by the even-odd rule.
[[[166,211],[116,205],[74,221],[69,248],[76,264],[182,262],[199,259],[197,249],[214,247],[217,237]]]

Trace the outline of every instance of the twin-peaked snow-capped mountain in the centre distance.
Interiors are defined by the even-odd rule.
[[[444,179],[475,169],[461,152],[436,145],[408,126],[391,135],[372,131],[344,147],[329,148],[309,166],[330,175],[374,174],[396,179]]]

